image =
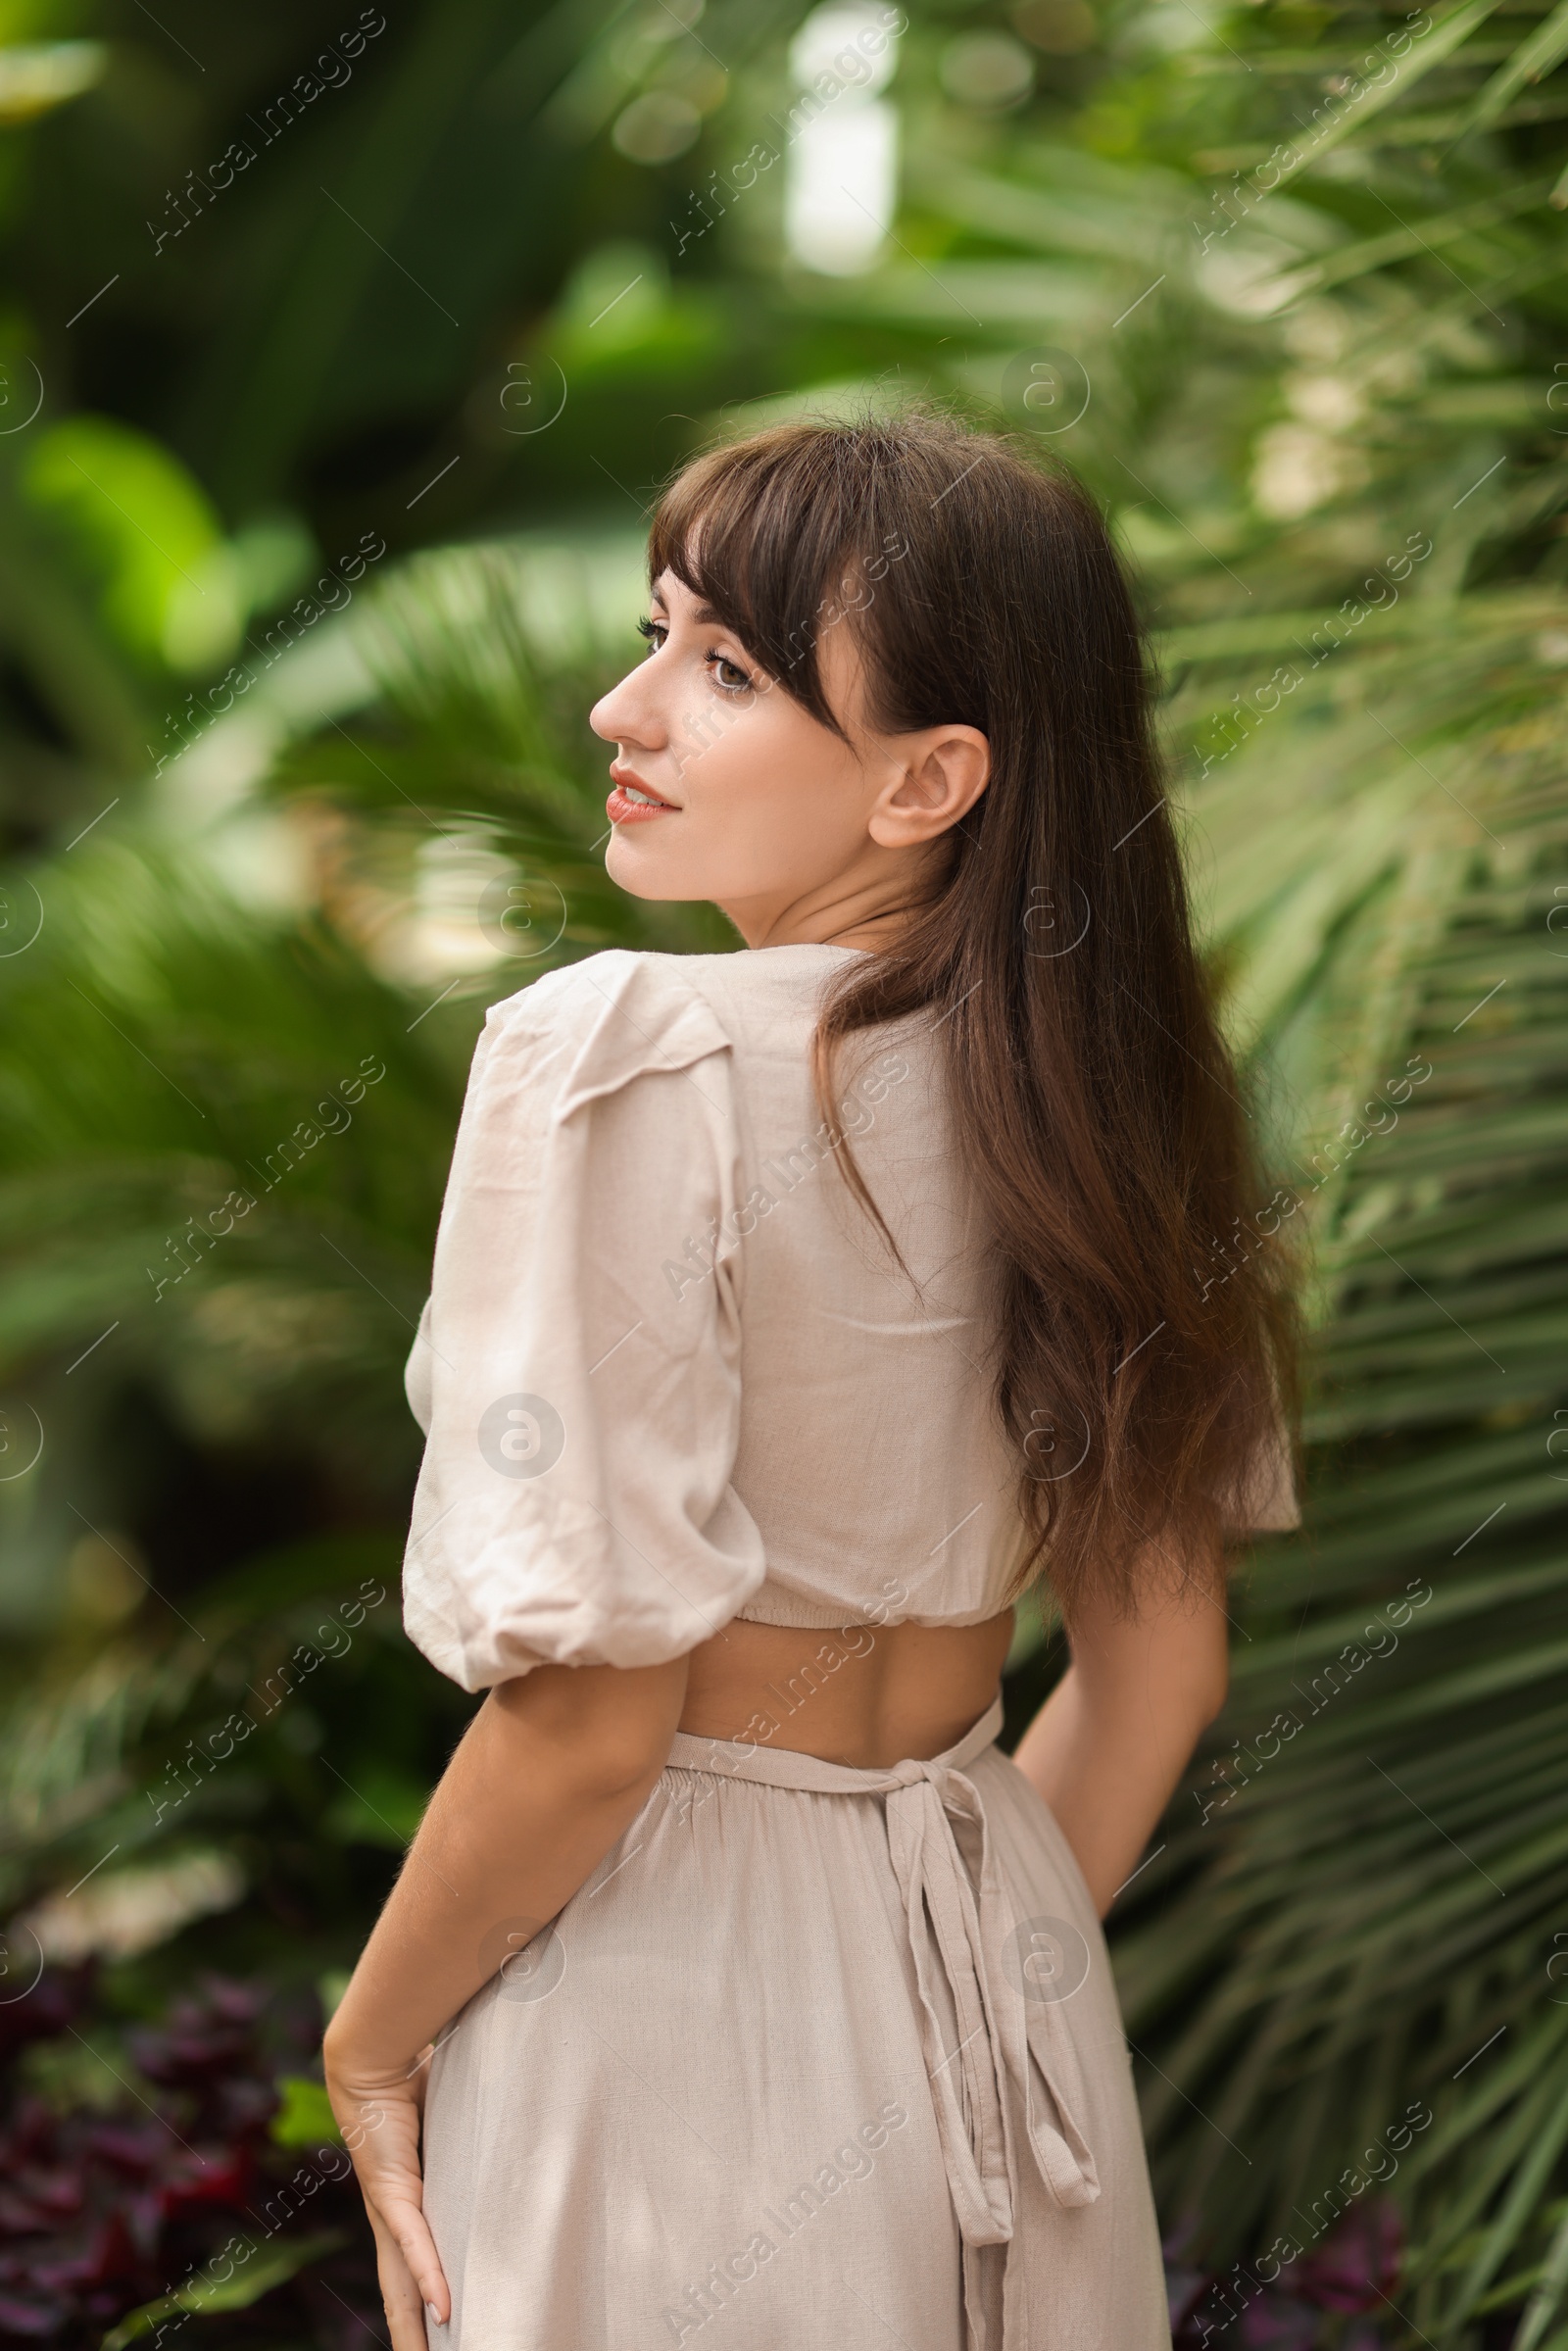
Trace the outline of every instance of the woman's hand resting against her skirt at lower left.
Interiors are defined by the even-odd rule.
[[[324,2050],[327,2097],[364,2191],[376,2236],[376,2276],[393,2351],[425,2351],[425,2306],[444,2325],[451,2292],[425,2222],[418,2132],[425,2111],[430,2050],[411,2071],[386,2074]]]

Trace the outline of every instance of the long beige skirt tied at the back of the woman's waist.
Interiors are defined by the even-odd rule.
[[[675,1740],[435,2052],[435,2351],[1168,2351],[1105,1942],[999,1726]]]

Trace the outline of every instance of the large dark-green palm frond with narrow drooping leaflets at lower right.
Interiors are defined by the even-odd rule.
[[[1229,2250],[1300,2238],[1403,2099],[1432,2104],[1403,2168],[1403,2309],[1434,2342],[1528,2236],[1568,2114],[1547,1975],[1568,1900],[1561,750],[1552,766],[1455,853],[1401,969],[1410,1056],[1319,1178],[1309,1523],[1258,1566],[1225,1749],[1119,1942],[1131,2031],[1159,2024],[1171,2078],[1150,2085],[1164,2184],[1225,2215]]]

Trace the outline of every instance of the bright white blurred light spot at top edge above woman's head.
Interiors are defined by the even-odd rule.
[[[896,9],[813,9],[790,42],[785,240],[827,277],[872,266],[898,202],[898,113],[877,96],[893,78]]]

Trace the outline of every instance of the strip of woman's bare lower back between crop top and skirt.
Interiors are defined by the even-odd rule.
[[[985,1625],[832,1632],[736,1617],[691,1653],[679,1728],[792,1747],[853,1770],[926,1761],[985,1714],[1011,1639],[1011,1608]]]

